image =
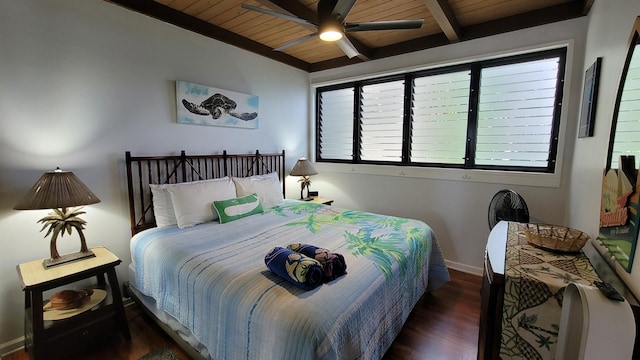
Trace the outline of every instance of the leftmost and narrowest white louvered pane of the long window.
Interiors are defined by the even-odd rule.
[[[353,158],[353,87],[318,95],[319,155],[323,159]]]

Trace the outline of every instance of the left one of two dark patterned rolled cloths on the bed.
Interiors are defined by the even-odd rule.
[[[322,284],[322,264],[293,250],[274,247],[264,257],[264,263],[276,275],[305,290]]]

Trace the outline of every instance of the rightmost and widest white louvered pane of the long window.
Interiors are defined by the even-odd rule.
[[[559,59],[484,68],[476,165],[548,166]]]

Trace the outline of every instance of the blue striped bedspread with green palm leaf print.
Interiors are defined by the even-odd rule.
[[[267,269],[275,246],[340,253],[347,274],[305,291]],[[244,219],[131,240],[135,287],[213,359],[379,359],[425,291],[449,280],[423,222],[286,201]]]

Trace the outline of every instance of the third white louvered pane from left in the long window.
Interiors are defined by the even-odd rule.
[[[464,164],[469,70],[414,80],[411,162]]]

